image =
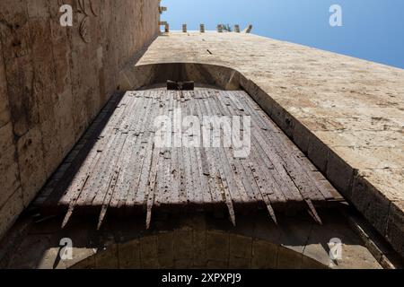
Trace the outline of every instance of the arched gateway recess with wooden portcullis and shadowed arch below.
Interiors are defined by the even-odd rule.
[[[239,74],[180,64],[137,73],[136,81],[153,81],[117,93],[101,111],[34,204],[51,219],[34,224],[19,246],[31,257],[15,254],[9,266],[380,267],[348,223],[342,197],[241,90]],[[196,88],[167,91],[166,78]],[[156,136],[164,126],[157,117],[169,120],[168,137]],[[35,241],[37,232],[46,242]]]

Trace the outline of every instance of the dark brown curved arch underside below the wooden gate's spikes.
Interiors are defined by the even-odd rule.
[[[161,231],[113,243],[73,269],[327,269],[292,248],[224,230]]]

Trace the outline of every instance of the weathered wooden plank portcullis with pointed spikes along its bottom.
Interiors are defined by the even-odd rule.
[[[174,115],[180,118],[175,118]],[[155,144],[154,120],[172,119],[171,145]],[[184,117],[199,119],[199,146],[178,145],[186,136]],[[204,117],[250,117],[250,154],[234,157],[233,148],[206,147]],[[243,126],[242,129],[248,128]],[[179,134],[181,132],[182,134]],[[175,145],[174,143],[177,143]],[[99,228],[108,213],[146,214],[154,211],[226,208],[233,224],[236,213],[266,208],[277,212],[306,209],[317,222],[314,206],[338,193],[302,152],[244,91],[131,91],[120,101],[63,196],[50,196],[50,205],[67,210],[64,225],[75,213],[95,211]]]

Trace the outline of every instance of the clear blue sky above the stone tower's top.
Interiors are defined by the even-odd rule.
[[[343,27],[330,27],[339,4]],[[404,68],[403,0],[162,0],[171,30],[253,24],[253,33]]]

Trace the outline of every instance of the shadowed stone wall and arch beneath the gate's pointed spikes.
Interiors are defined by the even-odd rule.
[[[240,268],[325,269],[330,237],[349,248],[363,243],[338,213],[322,213],[323,227],[314,228],[307,214],[282,216],[277,226],[266,213],[240,218],[234,227],[214,214],[169,215],[145,230],[143,218],[108,219],[101,230],[94,221],[75,216],[65,230],[63,218],[31,224],[22,243],[3,268]],[[73,260],[59,257],[60,240],[73,243]],[[307,252],[307,250],[309,252]],[[357,260],[357,259],[356,259]],[[354,267],[347,262],[346,267]]]

